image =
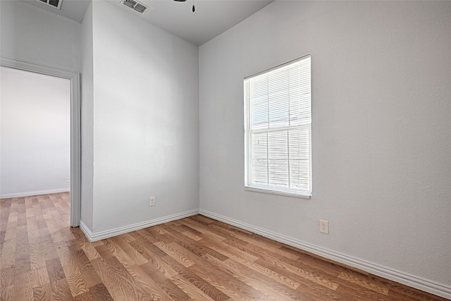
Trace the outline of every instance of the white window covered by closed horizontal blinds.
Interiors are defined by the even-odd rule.
[[[245,188],[311,195],[311,59],[245,78]]]

